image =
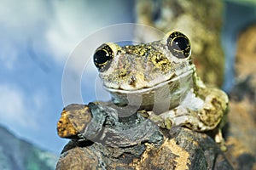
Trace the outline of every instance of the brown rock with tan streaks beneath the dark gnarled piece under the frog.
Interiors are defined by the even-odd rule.
[[[112,148],[72,141],[63,150],[56,169],[232,169],[218,145],[206,134],[184,127],[174,127],[170,133],[164,131],[166,139],[160,145]]]

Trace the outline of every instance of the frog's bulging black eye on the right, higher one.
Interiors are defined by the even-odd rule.
[[[189,38],[179,31],[174,31],[167,38],[167,47],[178,59],[185,59],[189,57],[191,47]]]

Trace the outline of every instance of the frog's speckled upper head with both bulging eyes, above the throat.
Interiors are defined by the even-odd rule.
[[[96,65],[103,86],[113,95],[140,94],[191,70],[189,38],[179,31],[160,41],[120,47],[108,42],[96,49]]]

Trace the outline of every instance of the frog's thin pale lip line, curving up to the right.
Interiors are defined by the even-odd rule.
[[[166,80],[165,82],[160,82],[158,84],[155,84],[152,87],[148,87],[148,88],[140,88],[140,89],[136,89],[136,90],[124,90],[124,89],[117,89],[117,88],[108,88],[106,86],[103,86],[103,88],[105,88],[108,92],[113,93],[113,94],[146,94],[147,92],[150,92],[156,88],[160,88],[163,86],[166,86],[168,84],[170,84],[170,82],[180,82],[179,84],[182,87],[187,87],[187,80],[188,78],[186,77],[192,77],[192,75],[194,74],[195,69],[190,69],[189,71],[185,71],[182,74],[176,76],[176,77],[172,77],[171,79]],[[186,81],[183,82],[183,80],[186,79]],[[193,81],[191,79],[191,81]],[[185,84],[183,84],[185,83]]]

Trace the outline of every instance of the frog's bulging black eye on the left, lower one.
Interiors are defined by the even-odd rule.
[[[113,59],[113,50],[106,43],[96,49],[93,55],[93,61],[99,71],[105,71],[108,69],[109,64]]]

